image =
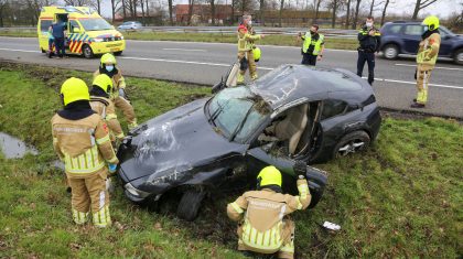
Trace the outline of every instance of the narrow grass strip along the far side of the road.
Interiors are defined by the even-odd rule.
[[[321,31],[321,33],[323,33]],[[214,42],[236,43],[235,34],[222,33],[169,33],[169,32],[123,32],[126,40],[140,41],[179,41],[179,42]],[[0,31],[0,36],[36,37],[36,32],[30,31]],[[325,47],[337,50],[356,50],[358,42],[355,39],[325,37]],[[258,42],[261,45],[301,46],[302,42],[292,35],[267,35]]]

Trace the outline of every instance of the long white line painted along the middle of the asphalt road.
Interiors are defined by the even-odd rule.
[[[13,51],[13,52],[33,52],[33,53],[41,53],[40,51],[25,51],[25,50],[14,50],[14,48],[0,48],[0,51]],[[151,61],[151,62],[166,62],[166,63],[181,63],[181,64],[193,64],[193,65],[208,65],[208,66],[222,66],[222,67],[229,67],[232,64],[222,64],[222,63],[207,63],[207,62],[192,62],[192,61],[175,61],[175,60],[162,60],[162,58],[147,58],[147,57],[131,57],[131,56],[120,56],[119,60],[133,60],[133,61]],[[258,69],[262,71],[272,71],[273,67],[258,67]],[[366,78],[366,77],[362,77]],[[414,85],[416,82],[407,82],[407,80],[396,80],[396,79],[386,79],[386,78],[375,78],[375,80],[379,82],[389,82],[389,83],[401,83],[408,85]],[[452,89],[463,89],[462,86],[448,86],[448,85],[439,85],[439,84],[429,84],[430,86],[442,87],[442,88],[452,88]]]

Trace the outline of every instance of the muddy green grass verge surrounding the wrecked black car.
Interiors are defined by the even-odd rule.
[[[159,215],[112,195],[115,226],[72,224],[69,195],[55,160],[50,118],[60,108],[66,76],[90,74],[37,66],[0,66],[0,131],[41,154],[6,160],[0,154],[0,257],[239,258],[225,204],[209,201],[194,223]],[[207,88],[128,78],[140,121],[208,94]],[[295,213],[300,258],[455,258],[462,255],[463,127],[451,120],[385,118],[378,141],[360,154],[320,165],[330,173],[324,199]],[[324,220],[342,226],[330,233]]]

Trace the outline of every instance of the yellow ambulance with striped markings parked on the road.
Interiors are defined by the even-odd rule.
[[[49,51],[49,28],[54,21],[66,23],[66,54],[87,58],[97,54],[120,55],[126,41],[115,26],[88,7],[43,7],[39,18],[37,34],[42,53]]]

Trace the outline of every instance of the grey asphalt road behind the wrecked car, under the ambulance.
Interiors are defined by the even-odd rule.
[[[98,66],[96,58],[50,60],[37,48],[36,39],[0,37],[0,58],[3,60],[83,71],[95,71]],[[281,64],[298,64],[301,61],[299,47],[261,46],[261,50],[260,75]],[[127,50],[118,57],[125,75],[202,85],[217,83],[235,60],[234,44],[147,41],[127,41]],[[356,72],[356,52],[326,50],[324,60],[317,65]],[[381,107],[413,110],[409,106],[416,96],[414,69],[414,60],[410,57],[376,60],[374,89]],[[441,61],[430,82],[428,106],[417,111],[463,118],[463,66]]]

